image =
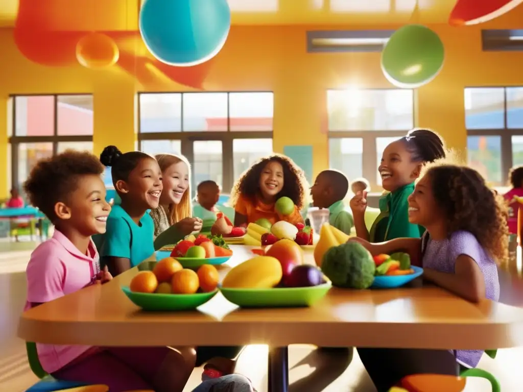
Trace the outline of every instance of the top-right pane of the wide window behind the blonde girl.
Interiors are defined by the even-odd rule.
[[[230,93],[231,131],[272,131],[274,94]]]

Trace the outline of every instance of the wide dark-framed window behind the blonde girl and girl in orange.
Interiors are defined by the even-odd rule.
[[[229,193],[256,159],[272,152],[270,92],[140,93],[139,149],[183,154],[192,182],[214,180]]]

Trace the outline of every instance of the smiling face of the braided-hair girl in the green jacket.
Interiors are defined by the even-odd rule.
[[[412,162],[411,153],[407,151],[401,140],[392,142],[383,151],[381,164],[378,167],[383,189],[394,192],[410,184],[418,178],[421,168],[421,163]]]

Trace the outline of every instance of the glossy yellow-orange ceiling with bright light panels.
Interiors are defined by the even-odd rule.
[[[35,6],[59,30],[136,30],[143,0],[0,0],[0,27],[19,6]],[[228,0],[233,25],[376,25],[447,23],[456,0]],[[29,5],[31,3],[31,5]],[[416,9],[416,4],[418,8]],[[416,11],[415,11],[416,9]]]

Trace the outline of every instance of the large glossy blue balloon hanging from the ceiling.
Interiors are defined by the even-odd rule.
[[[231,27],[226,0],[146,0],[140,33],[147,49],[163,63],[197,65],[223,47]]]

